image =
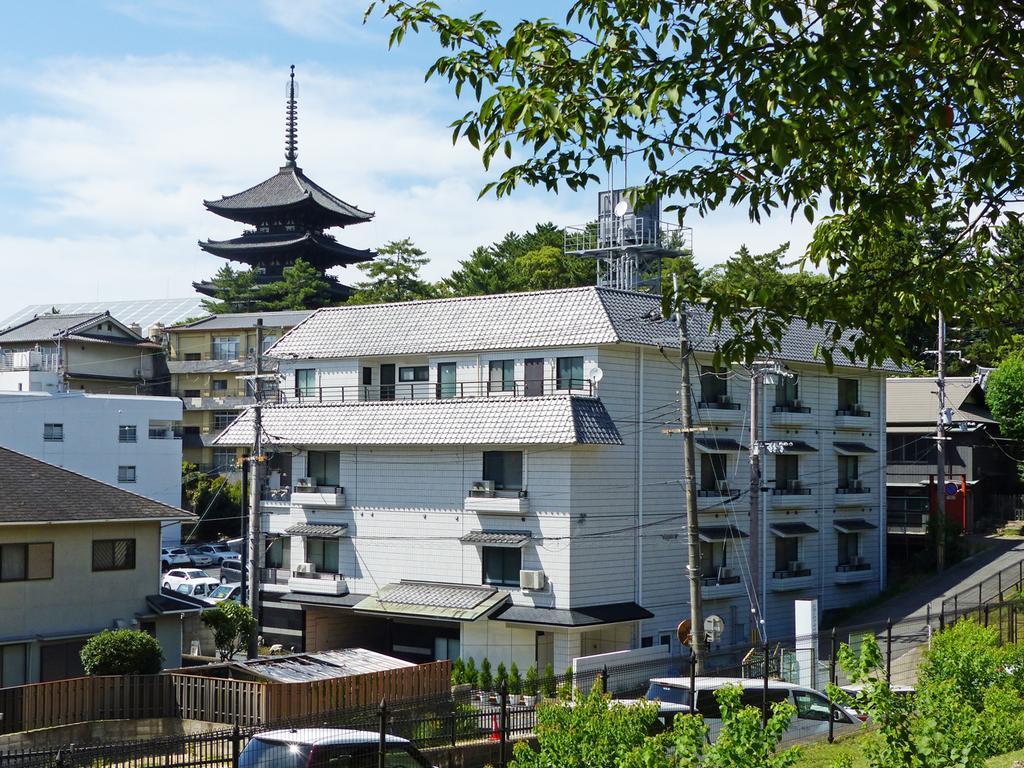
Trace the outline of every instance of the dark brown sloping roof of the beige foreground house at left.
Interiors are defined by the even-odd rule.
[[[186,520],[191,512],[0,447],[0,523]]]

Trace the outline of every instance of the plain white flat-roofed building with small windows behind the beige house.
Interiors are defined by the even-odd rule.
[[[0,445],[181,506],[177,397],[0,390]],[[163,523],[161,541],[181,541],[177,520]]]

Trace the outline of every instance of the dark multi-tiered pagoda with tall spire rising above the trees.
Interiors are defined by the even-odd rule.
[[[359,224],[373,218],[368,213],[336,198],[307,177],[296,164],[298,155],[298,113],[295,66],[288,82],[285,165],[273,176],[238,195],[204,201],[218,216],[249,224],[252,229],[231,240],[200,241],[200,248],[230,261],[249,264],[257,286],[282,280],[282,270],[303,259],[327,279],[331,298],[339,301],[352,293],[330,274],[334,266],[370,261],[376,255],[342,245],[325,230],[334,226]],[[193,287],[207,296],[215,295],[209,281]]]

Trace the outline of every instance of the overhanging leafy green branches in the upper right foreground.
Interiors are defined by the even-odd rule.
[[[746,333],[723,344],[727,357],[766,351],[777,316],[835,321],[826,362],[878,364],[908,355],[892,318],[941,309],[994,331],[1024,315],[1021,272],[992,238],[1024,185],[1018,4],[575,0],[563,22],[508,29],[434,0],[376,8],[394,22],[392,46],[436,37],[443,54],[427,76],[472,102],[453,138],[487,168],[505,156],[481,194],[583,188],[628,151],[646,174],[638,202],[817,221],[804,263],[828,282],[766,292],[746,313],[730,292],[684,296],[707,301],[717,326],[740,313]],[[923,241],[951,223],[954,242]]]

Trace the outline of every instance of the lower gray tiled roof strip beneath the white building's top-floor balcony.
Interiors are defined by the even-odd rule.
[[[248,410],[214,442],[248,445],[253,428]],[[567,394],[266,406],[263,431],[279,445],[622,444],[599,399]]]

